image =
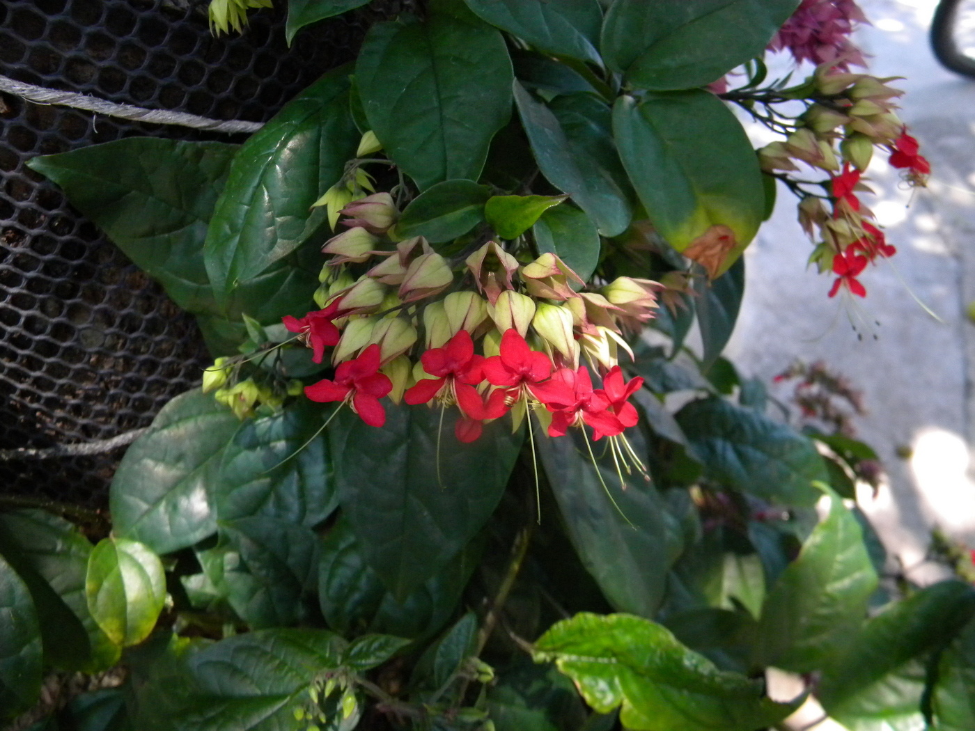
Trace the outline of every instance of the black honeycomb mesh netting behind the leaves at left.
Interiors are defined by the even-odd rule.
[[[373,4],[374,5],[374,4]],[[399,3],[383,4],[383,15]],[[0,3],[0,74],[53,89],[215,119],[265,121],[353,58],[370,17],[284,41],[284,11],[211,35],[188,0]],[[188,315],[59,189],[24,163],[124,136],[230,137],[0,96],[0,448],[104,439],[149,424],[208,363]],[[120,450],[0,463],[0,494],[100,507]]]

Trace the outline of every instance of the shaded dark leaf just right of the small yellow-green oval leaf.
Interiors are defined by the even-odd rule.
[[[237,615],[254,628],[293,625],[305,618],[302,602],[313,586],[319,541],[310,528],[268,516],[220,520],[222,586]],[[219,550],[219,549],[217,549]],[[236,558],[236,560],[235,560]]]

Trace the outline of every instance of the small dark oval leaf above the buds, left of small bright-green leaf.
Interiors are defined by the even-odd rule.
[[[463,236],[485,219],[490,188],[473,180],[445,180],[409,202],[396,232],[403,238],[422,236],[441,244]]]

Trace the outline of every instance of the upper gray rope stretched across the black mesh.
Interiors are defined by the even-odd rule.
[[[179,125],[180,127],[192,127],[197,130],[211,130],[229,134],[252,133],[263,127],[260,122],[242,122],[239,120],[221,122],[218,119],[198,117],[186,112],[174,112],[168,109],[142,109],[130,104],[115,104],[111,101],[99,99],[97,96],[46,89],[45,87],[8,79],[6,76],[0,76],[0,92],[20,96],[38,104],[59,104],[60,106],[70,106],[75,109],[105,114],[109,117],[121,117],[136,122],[150,122],[154,125]]]

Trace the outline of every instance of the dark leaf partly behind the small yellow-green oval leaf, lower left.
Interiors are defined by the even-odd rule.
[[[99,672],[119,658],[88,611],[91,553],[92,544],[67,520],[40,510],[0,515],[0,554],[17,563],[34,596],[45,660],[66,670]]]

